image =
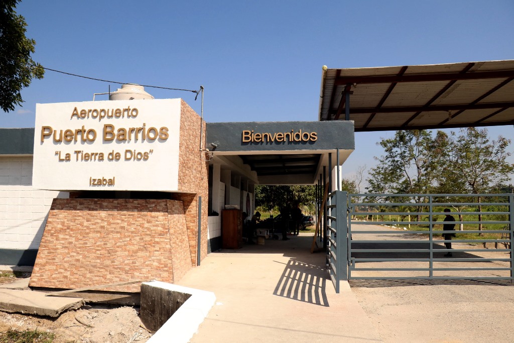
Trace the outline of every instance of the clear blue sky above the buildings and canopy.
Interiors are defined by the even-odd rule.
[[[514,59],[512,0],[25,0],[17,12],[43,66],[119,82],[203,85],[208,122],[317,120],[323,65]],[[23,90],[23,106],[0,112],[0,127],[33,127],[35,103],[90,101],[108,85],[47,71]],[[181,97],[200,112],[193,93],[145,90],[156,98]],[[489,132],[510,138],[514,128]],[[374,166],[373,156],[381,154],[375,143],[392,135],[356,133],[343,173]]]

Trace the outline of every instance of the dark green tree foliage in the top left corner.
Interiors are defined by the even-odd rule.
[[[42,79],[45,70],[35,63],[35,41],[25,37],[27,23],[14,10],[19,0],[0,3],[0,107],[9,112],[23,102],[21,90],[33,78]]]

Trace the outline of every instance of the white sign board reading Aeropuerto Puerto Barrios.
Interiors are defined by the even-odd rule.
[[[177,191],[180,99],[36,104],[32,185]]]

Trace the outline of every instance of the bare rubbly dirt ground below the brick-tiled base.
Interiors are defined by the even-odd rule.
[[[30,273],[0,272],[0,284],[28,277]],[[139,308],[86,304],[57,318],[0,312],[0,332],[8,329],[53,333],[54,343],[127,343],[146,342],[152,335],[141,327]]]

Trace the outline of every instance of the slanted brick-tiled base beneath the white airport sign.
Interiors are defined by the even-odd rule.
[[[177,201],[55,199],[29,285],[174,282],[192,267],[185,231],[183,206]],[[139,286],[104,291],[139,292]]]

